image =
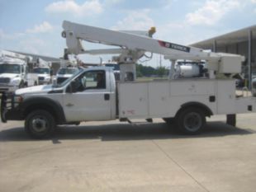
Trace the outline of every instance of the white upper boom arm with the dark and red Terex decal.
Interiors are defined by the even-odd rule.
[[[168,43],[162,40],[130,34],[124,31],[107,30],[94,26],[85,26],[70,21],[63,22],[63,36],[72,54],[83,54],[80,40],[88,40],[100,44],[119,46],[124,49],[142,50],[155,54],[164,54],[172,59],[208,59],[209,53],[202,49]]]

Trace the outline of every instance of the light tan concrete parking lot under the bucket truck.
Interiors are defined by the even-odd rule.
[[[23,122],[0,123],[1,191],[232,191],[256,189],[256,119],[208,119],[184,136],[162,119],[59,127],[32,140]]]

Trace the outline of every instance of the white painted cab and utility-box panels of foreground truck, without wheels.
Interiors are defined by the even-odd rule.
[[[178,79],[149,82],[119,82],[110,68],[89,68],[84,72],[102,70],[106,72],[105,89],[65,92],[64,87],[37,86],[19,89],[15,92],[23,100],[36,94],[58,101],[63,106],[67,122],[152,119],[174,117],[183,105],[200,103],[211,110],[212,115],[239,114],[256,111],[255,97],[236,97],[235,80]],[[79,73],[80,74],[80,73]],[[77,76],[78,77],[78,76]],[[73,77],[75,79],[76,77]],[[61,93],[49,94],[61,90]],[[118,93],[118,94],[117,94]],[[104,100],[104,95],[110,96]],[[118,97],[118,100],[116,100]],[[116,107],[118,106],[118,113]]]

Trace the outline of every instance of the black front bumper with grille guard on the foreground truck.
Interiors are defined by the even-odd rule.
[[[14,94],[2,93],[0,110],[2,123],[22,119],[20,104],[14,101]]]

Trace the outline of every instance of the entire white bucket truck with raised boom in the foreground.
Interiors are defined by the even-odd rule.
[[[177,122],[183,133],[198,133],[206,124],[206,116],[227,115],[227,123],[235,126],[235,114],[256,111],[256,98],[236,96],[232,73],[240,73],[242,56],[206,53],[202,49],[173,44],[126,32],[83,26],[64,21],[69,52],[86,52],[81,40],[111,44],[119,49],[93,50],[94,53],[120,53],[118,63],[121,81],[115,81],[111,68],[87,68],[73,74],[58,86],[19,89],[14,95],[2,96],[2,122],[24,120],[31,137],[43,138],[56,124],[78,124],[82,121],[163,118]],[[137,82],[135,62],[145,51],[177,59],[204,60],[209,75]],[[91,52],[91,53],[92,53]],[[88,53],[88,52],[87,52]]]

